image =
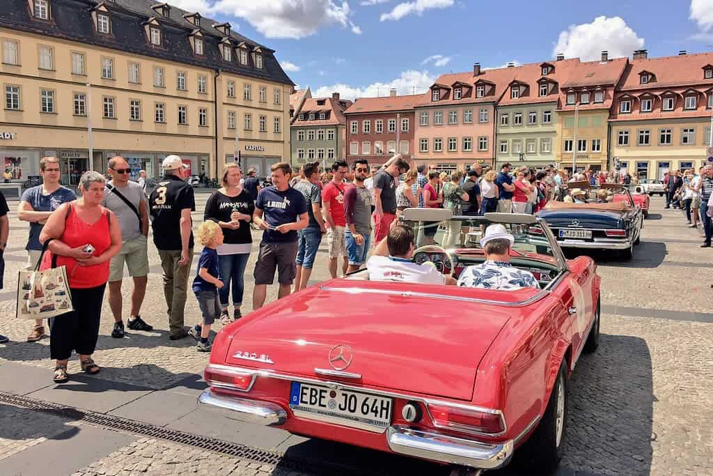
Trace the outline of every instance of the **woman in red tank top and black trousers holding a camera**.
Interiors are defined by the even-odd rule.
[[[54,318],[50,331],[50,354],[57,361],[53,380],[68,380],[67,360],[75,351],[81,368],[99,373],[91,356],[96,348],[104,288],[109,279],[109,261],[121,249],[121,229],[114,214],[101,206],[106,180],[98,172],[85,172],[79,183],[82,198],[64,203],[48,218],[40,242],[51,240],[40,266],[67,268],[74,310]],[[90,246],[91,245],[91,246]]]

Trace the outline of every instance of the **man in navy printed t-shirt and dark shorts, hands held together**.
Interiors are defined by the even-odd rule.
[[[297,230],[307,228],[309,214],[307,201],[301,192],[289,186],[292,168],[289,163],[275,163],[272,171],[272,186],[257,193],[253,221],[262,233],[260,252],[255,262],[255,288],[252,291],[252,308],[262,308],[267,297],[267,285],[275,279],[279,292],[277,298],[289,295],[297,265]]]

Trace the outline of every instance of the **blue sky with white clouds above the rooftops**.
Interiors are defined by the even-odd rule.
[[[299,86],[347,98],[422,92],[479,61],[713,51],[713,0],[175,0],[277,50]]]

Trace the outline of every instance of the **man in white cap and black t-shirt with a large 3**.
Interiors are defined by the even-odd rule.
[[[168,305],[170,340],[188,335],[183,326],[188,275],[193,258],[190,212],[195,211],[193,187],[185,182],[187,166],[179,156],[163,159],[164,176],[148,198],[153,243],[163,268],[163,295]]]

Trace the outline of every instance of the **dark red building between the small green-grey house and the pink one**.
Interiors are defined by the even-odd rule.
[[[347,162],[365,158],[381,165],[394,153],[407,161],[414,156],[416,116],[414,106],[425,100],[423,94],[396,96],[396,91],[381,98],[359,98],[344,111],[347,117]]]

